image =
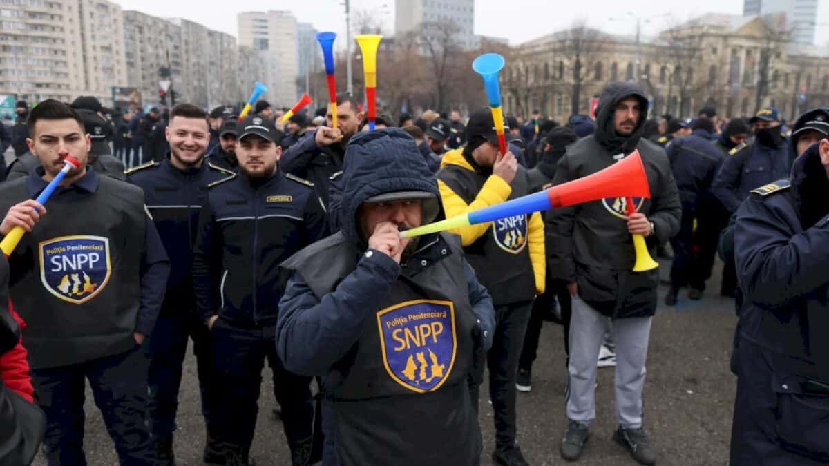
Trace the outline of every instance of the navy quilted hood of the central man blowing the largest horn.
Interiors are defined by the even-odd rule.
[[[348,143],[342,170],[342,234],[365,249],[356,218],[360,205],[400,191],[429,192],[434,199],[424,203],[434,201],[431,208],[441,211],[438,182],[409,133],[399,128],[357,133]]]

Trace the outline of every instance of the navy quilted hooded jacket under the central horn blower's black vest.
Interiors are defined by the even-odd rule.
[[[392,143],[397,139],[397,143]],[[400,153],[400,140],[411,144],[410,150]],[[396,155],[396,157],[395,157]],[[369,199],[386,192],[431,192],[439,198],[438,185],[420,155],[414,139],[397,128],[358,133],[348,144],[342,173],[341,234],[353,242],[358,250],[368,249],[360,232],[357,211]],[[439,208],[439,202],[437,202]],[[439,211],[438,219],[443,217]],[[330,239],[329,239],[330,240]],[[327,241],[327,240],[323,240]],[[420,238],[422,246],[408,260],[410,264],[440,260],[446,249],[440,235]],[[314,245],[309,246],[313,248]],[[356,268],[322,300],[313,293],[311,285],[301,274],[293,273],[279,302],[277,323],[277,351],[288,371],[306,375],[325,375],[361,336],[366,319],[375,313],[366,309],[376,306],[377,295],[390,289],[401,274],[401,265],[380,251],[360,255]],[[303,254],[300,252],[299,254]],[[473,269],[466,264],[464,279],[469,289],[469,302],[480,321],[485,347],[492,345],[495,329],[492,298]]]

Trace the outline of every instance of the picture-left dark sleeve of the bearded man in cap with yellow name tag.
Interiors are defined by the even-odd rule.
[[[219,311],[221,238],[218,233],[208,195],[201,206],[196,244],[193,246],[193,290],[196,293],[196,313],[201,320]]]

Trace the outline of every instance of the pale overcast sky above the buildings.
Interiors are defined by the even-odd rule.
[[[158,17],[182,17],[206,27],[236,34],[236,14],[247,11],[288,10],[299,22],[319,31],[345,34],[344,0],[114,0],[125,10]],[[351,0],[352,17],[371,11],[385,18],[385,32],[394,30],[395,0]],[[515,45],[570,26],[584,18],[592,27],[619,34],[636,31],[633,12],[642,17],[642,33],[653,34],[669,22],[681,22],[704,12],[742,14],[743,0],[476,0],[475,33],[507,37]],[[611,21],[611,17],[627,18]],[[646,18],[650,18],[644,22]],[[829,42],[829,0],[818,0],[817,45]],[[341,41],[337,41],[342,44]]]

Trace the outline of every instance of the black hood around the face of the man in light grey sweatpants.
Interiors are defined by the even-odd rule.
[[[628,97],[634,97],[639,100],[641,113],[639,114],[636,129],[633,129],[633,133],[629,136],[622,136],[616,133],[613,114],[616,104]],[[639,139],[642,138],[645,121],[647,121],[647,97],[645,97],[642,88],[634,83],[612,82],[602,92],[602,95],[599,96],[599,109],[596,111],[596,131],[594,138],[596,138],[596,142],[601,144],[608,153],[613,155],[617,153],[632,153],[633,149],[639,143]]]

